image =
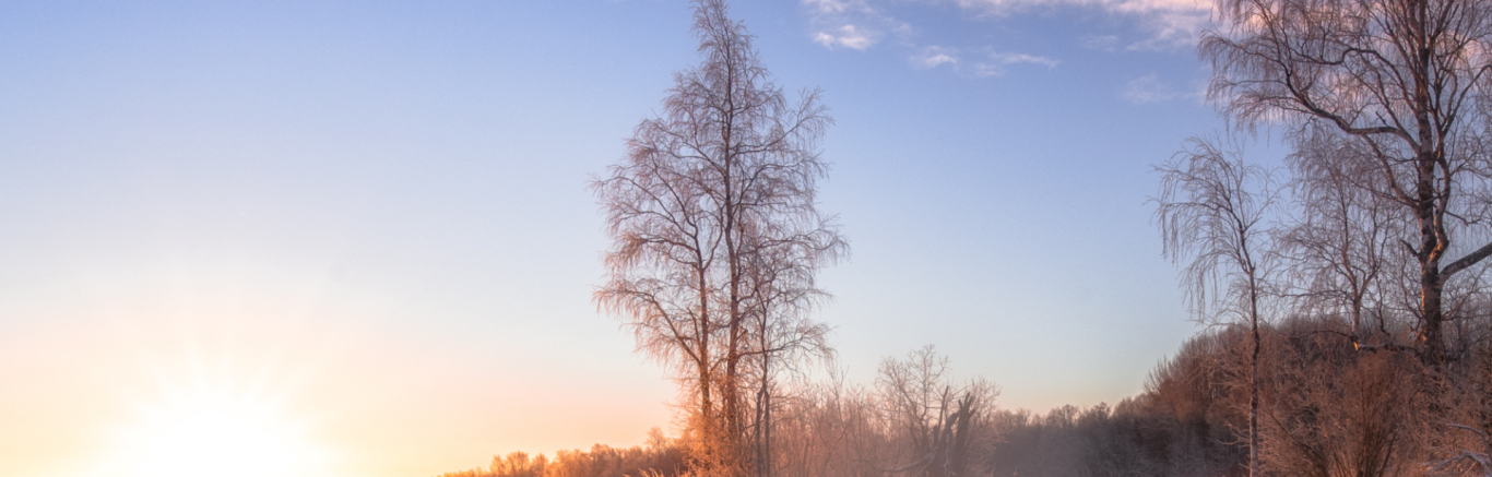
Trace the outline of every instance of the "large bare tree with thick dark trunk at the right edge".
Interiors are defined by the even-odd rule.
[[[1453,249],[1485,227],[1492,4],[1483,0],[1217,0],[1228,31],[1200,51],[1210,97],[1238,124],[1331,131],[1359,152],[1373,192],[1414,224],[1394,237],[1417,264],[1416,344],[1443,362],[1447,280],[1492,255]],[[1462,236],[1462,238],[1465,238]],[[1461,253],[1443,265],[1447,253]],[[1452,256],[1453,258],[1453,256]]]

